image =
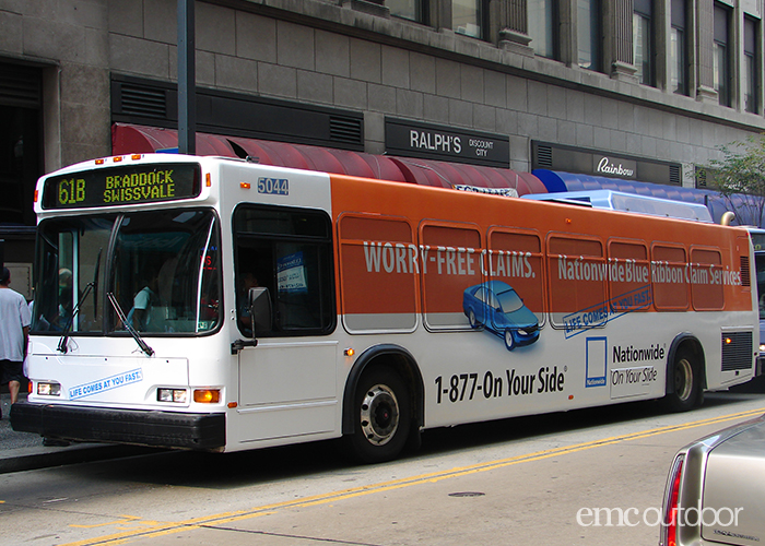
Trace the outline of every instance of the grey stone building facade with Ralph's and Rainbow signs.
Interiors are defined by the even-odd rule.
[[[763,0],[195,11],[197,129],[210,134],[694,187],[719,146],[765,130]],[[5,262],[33,261],[38,176],[110,155],[116,127],[177,129],[177,20],[175,0],[0,4]]]

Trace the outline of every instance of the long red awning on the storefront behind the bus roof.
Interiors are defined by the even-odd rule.
[[[111,128],[111,153],[148,154],[178,147],[174,129],[115,123]],[[474,186],[513,188],[519,195],[546,193],[544,185],[530,173],[481,167],[459,163],[436,162],[374,155],[330,147],[290,144],[286,142],[197,133],[197,155],[257,157],[263,165],[290,167],[379,180],[411,182],[440,188]]]

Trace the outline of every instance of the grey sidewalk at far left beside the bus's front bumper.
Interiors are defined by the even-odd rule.
[[[19,394],[20,400],[26,393]],[[110,443],[76,443],[66,448],[46,448],[43,438],[30,432],[16,432],[11,428],[11,395],[0,394],[0,474],[20,472],[62,464],[84,463],[145,453],[146,448],[115,446]]]

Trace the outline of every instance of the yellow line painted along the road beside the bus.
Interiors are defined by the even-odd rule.
[[[480,472],[492,471],[496,468],[503,468],[506,466],[511,466],[520,463],[529,463],[534,461],[541,461],[544,459],[550,459],[558,455],[566,455],[570,453],[578,453],[580,451],[590,450],[595,448],[601,448],[605,446],[613,446],[615,443],[621,443],[632,440],[640,440],[644,438],[650,438],[651,436],[663,435],[667,432],[678,432],[682,430],[690,430],[692,428],[703,427],[707,425],[716,425],[721,423],[727,423],[735,419],[743,419],[746,417],[757,417],[765,413],[765,407],[758,410],[750,410],[746,412],[739,412],[734,414],[721,415],[718,417],[710,417],[707,419],[699,419],[691,423],[684,423],[681,425],[669,425],[659,428],[652,428],[648,430],[643,430],[639,432],[632,432],[622,436],[614,436],[610,438],[601,438],[598,440],[592,440],[589,442],[576,443],[573,446],[565,446],[558,448],[552,448],[548,450],[537,451],[534,453],[525,453],[520,455],[510,456],[507,459],[501,459],[496,461],[486,461],[484,463],[478,463],[470,466],[455,467],[447,471],[433,472],[428,474],[421,474],[417,476],[411,476],[408,478],[393,479],[390,482],[381,482],[378,484],[372,484],[361,487],[354,487],[351,489],[342,489],[338,491],[330,491],[320,495],[315,495],[310,497],[303,497],[299,499],[287,500],[283,502],[275,502],[272,505],[266,505],[262,507],[256,507],[247,510],[238,510],[233,512],[222,512],[213,515],[205,515],[200,518],[193,518],[186,521],[179,522],[167,522],[157,524],[153,527],[144,530],[132,530],[125,533],[115,533],[111,535],[89,538],[85,541],[79,541],[74,543],[64,544],[62,546],[102,546],[102,545],[116,545],[125,544],[132,538],[152,538],[160,537],[164,535],[169,535],[174,533],[180,533],[183,531],[192,531],[197,529],[214,527],[215,525],[221,525],[223,523],[232,523],[242,520],[248,520],[252,518],[260,518],[262,515],[274,514],[281,510],[291,508],[307,508],[319,505],[326,505],[329,502],[336,502],[339,500],[352,499],[356,497],[363,497],[370,494],[390,491],[395,489],[402,489],[404,487],[410,487],[414,485],[422,484],[434,484],[442,482],[444,479],[450,479],[460,476],[467,476],[470,474],[475,474]],[[148,521],[148,520],[146,520]],[[75,525],[72,525],[75,526]]]

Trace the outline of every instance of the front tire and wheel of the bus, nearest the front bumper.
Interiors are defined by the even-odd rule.
[[[396,459],[407,446],[412,423],[410,396],[393,370],[375,367],[358,380],[353,397],[353,454],[364,463]]]

